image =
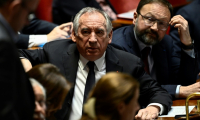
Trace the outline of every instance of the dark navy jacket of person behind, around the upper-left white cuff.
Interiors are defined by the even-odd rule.
[[[17,48],[27,49],[29,44],[29,35],[46,35],[49,34],[56,26],[56,24],[34,18],[30,21],[30,24],[28,26],[25,26],[22,29],[22,31],[20,32],[21,34],[18,36],[18,39],[14,42]]]

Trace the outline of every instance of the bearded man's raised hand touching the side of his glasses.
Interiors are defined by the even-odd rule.
[[[178,28],[180,40],[184,45],[189,46],[192,44],[187,20],[185,20],[181,15],[176,15],[171,19],[169,24]]]

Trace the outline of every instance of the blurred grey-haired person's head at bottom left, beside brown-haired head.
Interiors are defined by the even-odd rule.
[[[45,120],[46,111],[46,93],[44,87],[35,79],[30,78],[31,85],[35,94],[35,112],[33,114],[34,120]]]

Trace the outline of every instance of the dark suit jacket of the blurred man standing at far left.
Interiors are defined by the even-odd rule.
[[[0,21],[0,119],[32,120],[35,98],[13,38]]]

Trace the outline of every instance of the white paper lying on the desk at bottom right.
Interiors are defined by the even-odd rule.
[[[189,113],[192,111],[192,109],[195,106],[189,106]],[[161,115],[159,117],[175,117],[175,115],[182,115],[186,114],[185,112],[185,106],[172,106],[171,110],[168,112],[167,115]]]

